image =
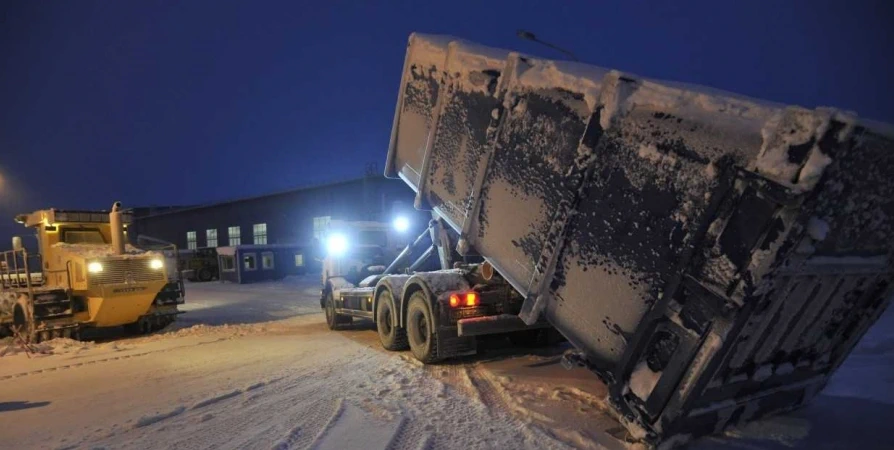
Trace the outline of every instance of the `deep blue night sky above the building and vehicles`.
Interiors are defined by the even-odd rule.
[[[561,56],[525,28],[599,66],[894,123],[886,3],[4,0],[0,247],[44,207],[381,171],[413,31]]]

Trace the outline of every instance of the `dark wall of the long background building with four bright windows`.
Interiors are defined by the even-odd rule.
[[[413,209],[413,191],[400,180],[369,177],[343,183],[271,194],[174,212],[135,214],[128,236],[147,235],[188,248],[187,232],[196,232],[197,247],[208,246],[206,230],[217,230],[217,246],[230,245],[228,229],[240,227],[241,244],[254,244],[253,226],[266,224],[267,244],[314,244],[314,218],[390,222],[409,215],[424,228],[428,213]],[[136,211],[135,211],[136,212]],[[420,228],[421,227],[421,228]]]

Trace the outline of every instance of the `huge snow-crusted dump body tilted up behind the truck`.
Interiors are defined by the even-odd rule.
[[[652,443],[808,401],[891,298],[894,133],[849,113],[414,34],[386,175]]]

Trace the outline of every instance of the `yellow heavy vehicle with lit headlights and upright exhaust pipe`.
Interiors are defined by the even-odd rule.
[[[24,340],[78,338],[87,328],[124,326],[148,333],[173,322],[182,280],[159,252],[126,243],[128,215],[47,209],[16,217],[36,232],[36,252],[21,237],[0,253],[0,328]],[[32,237],[32,236],[28,236]]]

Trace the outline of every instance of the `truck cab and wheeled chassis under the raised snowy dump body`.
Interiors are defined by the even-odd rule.
[[[546,321],[527,325],[519,320],[523,299],[508,283],[494,279],[495,272],[481,265],[481,258],[463,258],[451,250],[450,239],[455,243],[456,235],[437,216],[409,243],[407,221],[403,216],[395,217],[392,224],[333,221],[325,231],[320,306],[330,329],[351,324],[354,318],[370,319],[383,347],[410,349],[423,362],[475,354],[477,337],[483,335],[505,334],[526,346],[560,338],[549,332]],[[466,288],[478,278],[479,289],[454,289],[444,305],[431,304],[428,309],[415,305],[408,311],[413,323],[400,325],[399,303],[391,296],[403,292],[408,281],[411,286],[429,286],[433,279],[414,284],[418,277],[410,275],[421,277],[436,270],[444,270],[451,282],[452,274],[464,274]],[[417,296],[428,302],[421,292]],[[429,339],[428,326],[436,327],[430,329],[437,339]]]

